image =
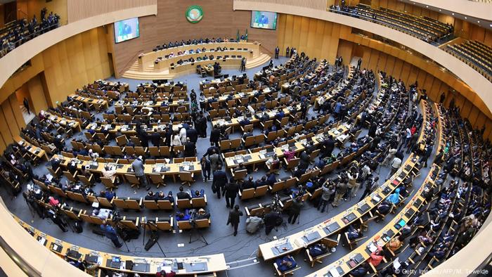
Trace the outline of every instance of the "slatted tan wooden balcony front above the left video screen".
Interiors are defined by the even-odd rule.
[[[68,0],[68,23],[115,11],[157,5],[157,0]]]

